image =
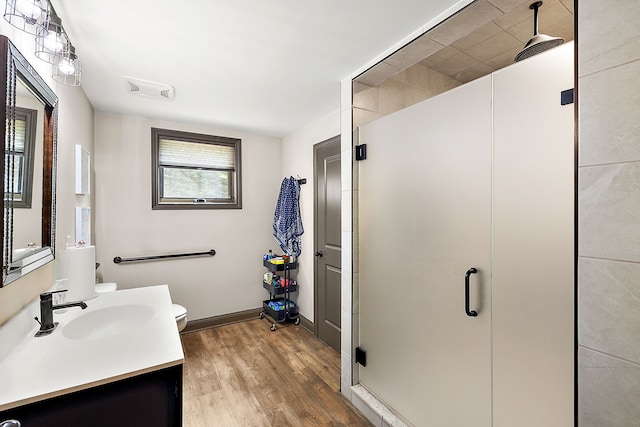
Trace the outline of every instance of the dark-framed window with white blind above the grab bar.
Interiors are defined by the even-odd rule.
[[[151,128],[152,208],[242,208],[240,142]]]

